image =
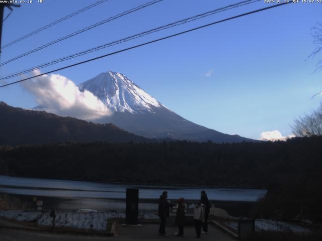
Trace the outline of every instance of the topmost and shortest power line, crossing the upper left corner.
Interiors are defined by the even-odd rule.
[[[72,14],[69,14],[69,15],[67,15],[67,16],[65,16],[65,17],[63,17],[63,18],[61,18],[61,19],[58,19],[58,20],[56,20],[56,21],[54,21],[54,22],[52,22],[52,23],[50,23],[50,24],[47,24],[47,25],[45,25],[44,27],[41,27],[41,28],[39,28],[39,29],[37,29],[37,30],[35,30],[35,31],[31,32],[31,33],[29,33],[29,34],[26,34],[25,36],[23,36],[23,37],[21,37],[21,38],[19,38],[19,39],[16,39],[16,40],[14,40],[14,41],[12,41],[12,42],[10,42],[10,43],[8,43],[8,44],[4,45],[1,49],[5,49],[5,48],[7,48],[7,47],[9,47],[9,46],[11,46],[11,45],[13,45],[13,44],[16,44],[16,43],[18,43],[18,42],[20,42],[20,41],[22,41],[22,40],[24,40],[24,39],[27,39],[27,38],[29,38],[30,36],[33,36],[33,35],[35,35],[35,34],[37,34],[37,33],[41,32],[41,31],[43,31],[43,30],[45,30],[45,29],[48,29],[48,28],[50,28],[50,27],[52,27],[52,26],[54,26],[54,25],[56,25],[56,24],[58,24],[58,23],[62,22],[62,21],[65,21],[65,20],[67,20],[67,19],[69,19],[69,18],[71,18],[71,17],[74,17],[74,16],[75,16],[75,15],[77,15],[77,14],[83,13],[83,12],[85,12],[85,11],[87,11],[87,10],[91,9],[91,8],[94,8],[94,7],[96,7],[96,6],[100,5],[100,4],[103,4],[103,3],[104,3],[104,2],[106,2],[106,1],[108,1],[108,0],[100,0],[100,1],[98,1],[98,2],[96,2],[96,3],[94,3],[94,4],[91,4],[91,5],[89,5],[89,6],[85,7],[85,8],[83,8],[83,9],[78,10],[78,11],[76,11],[76,12],[72,13]]]

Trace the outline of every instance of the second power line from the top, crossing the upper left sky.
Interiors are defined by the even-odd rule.
[[[51,42],[49,42],[49,43],[47,43],[47,44],[44,44],[44,45],[42,45],[42,46],[40,46],[40,47],[38,47],[38,48],[35,48],[35,49],[30,50],[30,51],[28,51],[28,52],[26,52],[26,53],[24,53],[24,54],[18,55],[18,56],[16,56],[16,57],[12,58],[12,59],[9,59],[9,60],[7,60],[7,61],[5,61],[5,62],[3,62],[3,63],[0,63],[0,66],[3,66],[3,65],[5,65],[5,64],[8,64],[8,63],[10,63],[10,62],[12,62],[12,61],[14,61],[14,60],[16,60],[16,59],[20,59],[20,58],[22,58],[22,57],[24,57],[24,56],[26,56],[26,55],[32,54],[32,53],[37,52],[37,51],[39,51],[39,50],[41,50],[41,49],[44,49],[44,48],[46,48],[46,47],[49,47],[50,45],[53,45],[53,44],[56,44],[56,43],[58,43],[58,42],[60,42],[60,41],[66,40],[66,39],[68,39],[68,38],[71,38],[71,37],[73,37],[73,36],[75,36],[75,35],[77,35],[77,34],[84,33],[84,32],[86,32],[86,31],[88,31],[88,30],[90,30],[90,29],[93,29],[93,28],[95,28],[95,27],[98,27],[98,26],[100,26],[100,25],[102,25],[102,24],[106,24],[106,23],[108,23],[108,22],[110,22],[110,21],[112,21],[112,20],[118,19],[118,18],[120,18],[120,17],[122,17],[122,16],[124,16],[124,15],[130,14],[130,13],[133,13],[133,12],[135,12],[135,11],[138,11],[138,10],[140,10],[140,9],[146,8],[146,7],[150,6],[150,5],[156,4],[156,3],[161,2],[161,1],[163,1],[163,0],[153,0],[153,1],[151,1],[151,2],[148,2],[148,3],[145,3],[145,4],[143,4],[143,5],[140,5],[140,6],[136,7],[136,8],[130,9],[130,10],[128,10],[128,11],[125,11],[125,12],[123,12],[123,13],[121,13],[121,14],[118,14],[118,15],[115,15],[115,16],[110,17],[110,18],[108,18],[108,19],[105,19],[105,20],[103,20],[103,21],[101,21],[101,22],[98,22],[98,23],[93,24],[93,25],[91,25],[91,26],[88,26],[88,27],[86,27],[86,28],[84,28],[84,29],[78,30],[78,31],[73,32],[73,33],[71,33],[71,34],[68,34],[68,35],[66,35],[66,36],[64,36],[64,37],[62,37],[62,38],[56,39],[56,40],[54,40],[54,41],[51,41]]]

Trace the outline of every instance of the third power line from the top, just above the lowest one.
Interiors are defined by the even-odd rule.
[[[140,38],[140,37],[143,37],[143,36],[151,34],[151,33],[162,31],[162,30],[165,30],[165,29],[168,29],[168,28],[172,28],[172,27],[181,25],[181,24],[186,24],[186,23],[189,23],[189,22],[201,19],[201,18],[205,18],[205,17],[213,15],[213,14],[217,14],[219,12],[223,12],[223,11],[226,11],[226,10],[229,10],[229,9],[237,8],[237,7],[240,7],[240,6],[252,4],[252,3],[255,3],[255,2],[259,2],[259,1],[261,1],[261,0],[248,0],[248,1],[243,1],[243,2],[236,3],[236,4],[232,4],[232,5],[228,5],[228,6],[223,7],[223,8],[215,9],[215,10],[203,13],[203,14],[199,14],[199,15],[196,15],[196,16],[193,16],[193,17],[186,18],[184,20],[180,20],[180,21],[177,21],[177,22],[174,22],[174,23],[171,23],[171,24],[167,24],[167,25],[164,25],[164,26],[160,26],[160,27],[157,27],[157,28],[154,28],[154,29],[142,32],[142,33],[139,33],[139,34],[135,34],[135,35],[132,35],[132,36],[127,37],[127,38],[116,40],[116,41],[113,41],[113,42],[110,42],[110,43],[107,43],[107,44],[104,44],[104,45],[101,45],[101,46],[98,46],[98,47],[95,47],[95,48],[91,48],[91,49],[88,49],[88,50],[85,50],[85,51],[82,51],[82,52],[78,52],[78,53],[75,53],[75,54],[60,58],[60,59],[56,59],[54,61],[47,62],[45,64],[34,66],[34,67],[29,68],[29,69],[20,71],[20,72],[9,74],[7,76],[1,77],[0,80],[10,79],[10,78],[22,75],[22,74],[32,72],[35,69],[45,68],[45,67],[48,67],[48,66],[51,66],[51,65],[54,65],[54,64],[57,64],[57,63],[72,59],[72,58],[76,58],[76,57],[79,57],[79,56],[82,56],[82,55],[85,55],[85,54],[89,54],[89,53],[92,53],[92,52],[95,52],[95,51],[98,51],[98,50],[113,46],[113,45],[117,45],[117,44],[127,42],[127,41],[130,41],[130,40],[136,39],[136,38]]]

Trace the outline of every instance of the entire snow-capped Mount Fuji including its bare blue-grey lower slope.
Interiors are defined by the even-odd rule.
[[[147,138],[232,143],[255,140],[228,135],[197,125],[160,103],[124,74],[108,71],[78,85],[105,103],[113,112],[97,119]],[[38,108],[39,109],[39,108]]]

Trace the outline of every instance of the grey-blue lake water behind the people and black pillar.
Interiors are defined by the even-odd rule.
[[[168,191],[172,201],[184,197],[191,202],[200,198],[201,190],[207,192],[211,201],[255,202],[267,192],[265,189],[108,184],[0,176],[1,193],[19,195],[28,200],[41,197],[60,209],[122,210],[125,208],[126,188],[139,188],[139,199],[142,200],[139,207],[143,210],[155,210],[156,200],[164,190]]]

